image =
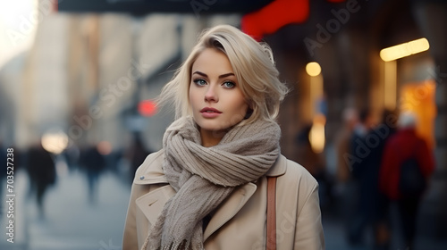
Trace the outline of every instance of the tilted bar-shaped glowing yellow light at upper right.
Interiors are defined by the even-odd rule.
[[[426,38],[420,38],[401,45],[384,48],[380,51],[380,58],[382,58],[384,62],[390,62],[409,56],[410,54],[424,52],[428,50],[428,48],[430,48],[428,40]]]

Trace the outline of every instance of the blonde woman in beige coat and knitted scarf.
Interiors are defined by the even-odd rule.
[[[276,249],[324,249],[316,180],[280,152],[286,92],[268,46],[206,30],[162,90],[176,121],[136,171],[122,249],[266,249],[269,177]]]

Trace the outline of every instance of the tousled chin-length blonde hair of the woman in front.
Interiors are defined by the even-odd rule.
[[[163,87],[157,104],[173,104],[175,119],[192,114],[189,98],[192,64],[207,48],[218,49],[227,55],[240,90],[252,110],[249,118],[240,124],[259,118],[274,120],[288,88],[278,79],[272,50],[230,25],[218,25],[202,32],[186,61]]]

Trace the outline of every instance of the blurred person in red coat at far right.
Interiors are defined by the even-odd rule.
[[[407,246],[412,249],[416,235],[417,207],[421,195],[403,196],[399,191],[401,163],[414,157],[426,182],[434,171],[434,155],[428,148],[426,140],[417,136],[416,117],[413,113],[404,112],[398,121],[399,130],[385,145],[380,169],[380,190],[398,204],[401,227]],[[408,247],[408,248],[407,248]]]

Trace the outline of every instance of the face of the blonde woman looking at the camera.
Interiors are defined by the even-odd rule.
[[[243,120],[249,105],[226,54],[207,48],[192,64],[190,105],[205,144]]]

